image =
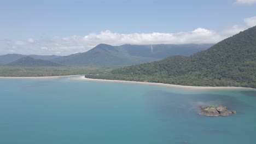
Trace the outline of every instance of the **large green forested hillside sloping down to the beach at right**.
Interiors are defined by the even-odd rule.
[[[172,56],[158,62],[133,65],[107,74],[86,77],[188,86],[256,88],[255,71],[256,26],[189,57]]]

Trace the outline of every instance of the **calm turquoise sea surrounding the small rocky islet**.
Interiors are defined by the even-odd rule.
[[[255,143],[256,91],[0,79],[0,143]],[[222,104],[237,114],[198,115]]]

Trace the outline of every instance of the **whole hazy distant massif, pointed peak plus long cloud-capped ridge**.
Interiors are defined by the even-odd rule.
[[[212,44],[187,44],[187,45],[121,45],[111,46],[99,44],[93,49],[51,59],[63,65],[120,67],[125,65],[140,64],[158,61],[173,55],[188,56],[195,52],[208,49]]]

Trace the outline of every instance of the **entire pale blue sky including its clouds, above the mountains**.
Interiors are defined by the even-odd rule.
[[[218,43],[253,26],[256,0],[0,0],[0,55]]]

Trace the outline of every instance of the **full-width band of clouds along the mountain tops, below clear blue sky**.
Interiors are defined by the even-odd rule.
[[[37,55],[70,55],[85,52],[98,44],[109,45],[150,45],[150,44],[213,44],[256,25],[256,16],[244,20],[245,26],[234,25],[216,32],[206,28],[196,28],[189,32],[178,33],[116,33],[109,30],[100,33],[70,37],[53,37],[48,39],[1,40],[0,53],[20,53]],[[2,43],[2,44],[1,44]]]

